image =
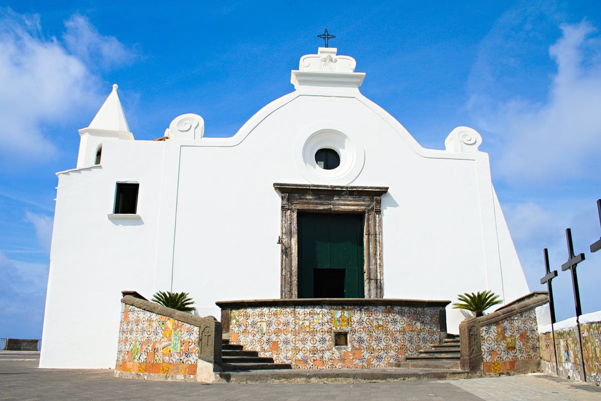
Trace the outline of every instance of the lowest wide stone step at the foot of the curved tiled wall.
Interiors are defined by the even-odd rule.
[[[220,372],[219,381],[232,383],[370,383],[477,377],[457,369],[287,369]]]

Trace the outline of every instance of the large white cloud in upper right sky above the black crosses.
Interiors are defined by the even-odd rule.
[[[471,94],[468,107],[493,135],[494,171],[508,182],[599,182],[601,37],[586,21],[563,24],[561,37],[549,47],[549,55],[557,64],[557,73],[546,99],[526,100],[516,94],[495,100],[494,93],[484,93],[481,87]],[[511,55],[505,57],[512,59]],[[514,62],[520,69],[528,60]],[[480,64],[475,68],[475,75],[487,76],[491,82],[507,79],[495,76],[493,67]]]

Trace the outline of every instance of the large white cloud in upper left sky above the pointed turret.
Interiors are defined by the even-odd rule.
[[[114,65],[128,52],[78,15],[66,22],[67,44],[40,32],[39,16],[0,8],[0,156],[5,160],[50,158],[56,147],[47,124],[68,121],[84,109],[93,112],[102,104],[94,66]]]

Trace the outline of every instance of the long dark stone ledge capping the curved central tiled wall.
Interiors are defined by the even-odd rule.
[[[395,298],[293,298],[293,299],[246,299],[240,301],[217,301],[222,309],[240,309],[270,306],[401,306],[445,308],[451,301],[429,299],[395,299]]]

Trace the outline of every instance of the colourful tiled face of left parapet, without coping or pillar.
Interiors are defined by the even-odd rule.
[[[198,327],[121,304],[116,370],[196,375]]]

